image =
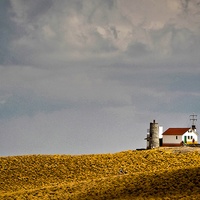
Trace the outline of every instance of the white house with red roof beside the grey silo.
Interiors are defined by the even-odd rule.
[[[163,134],[162,146],[181,146],[185,144],[198,143],[198,133],[196,127],[192,128],[169,128]]]

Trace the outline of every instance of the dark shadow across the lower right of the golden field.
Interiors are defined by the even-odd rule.
[[[159,172],[158,172],[159,173]],[[94,181],[77,199],[136,199],[139,197],[189,197],[199,195],[200,168],[118,176]],[[97,189],[98,188],[98,189]]]

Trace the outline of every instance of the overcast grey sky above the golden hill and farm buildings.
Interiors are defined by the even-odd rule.
[[[199,110],[200,0],[0,0],[0,156],[145,148]]]

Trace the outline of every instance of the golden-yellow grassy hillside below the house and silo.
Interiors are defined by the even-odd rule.
[[[199,148],[0,157],[0,199],[200,199]]]

